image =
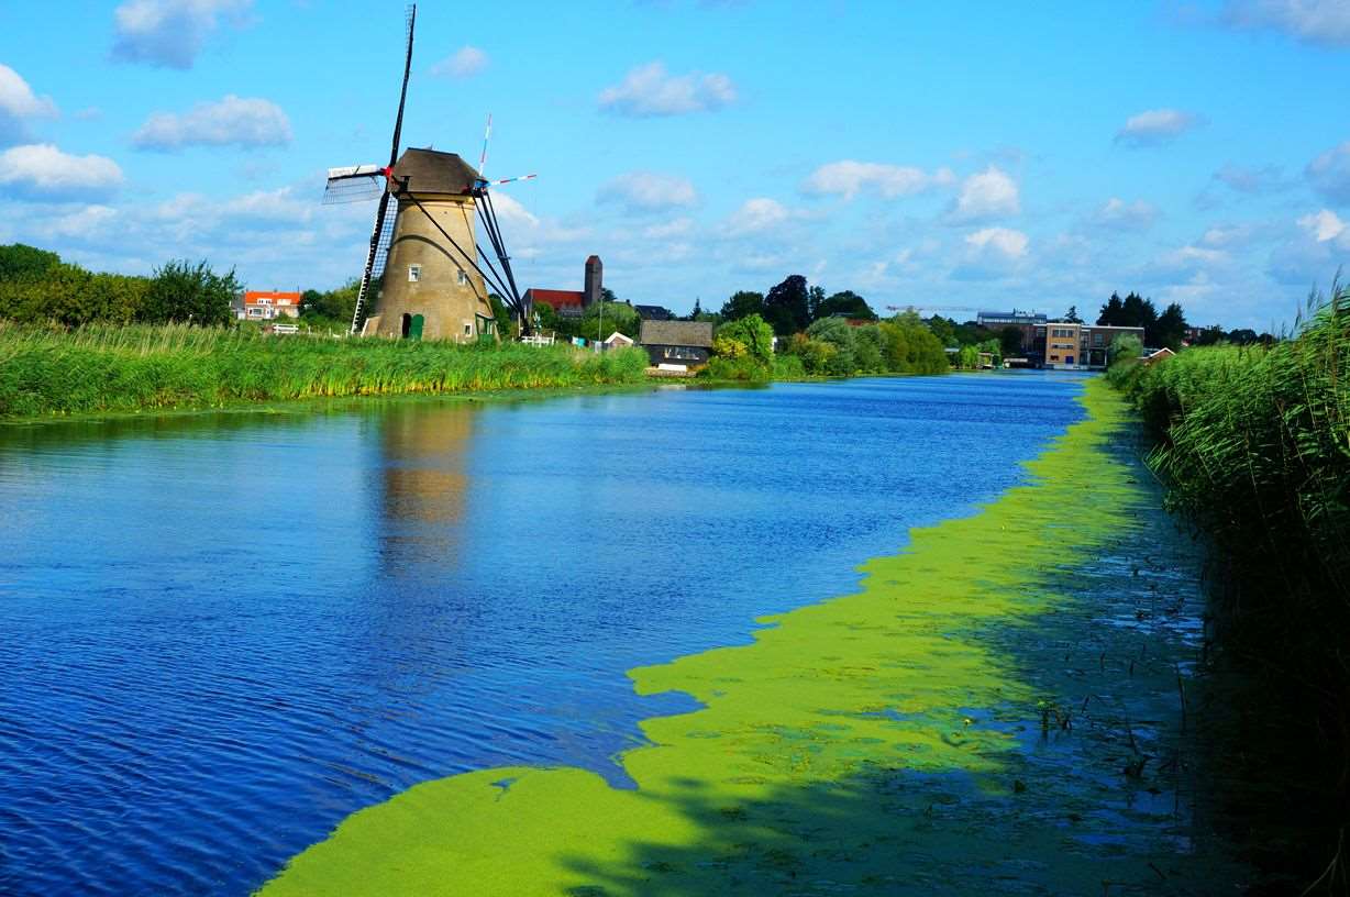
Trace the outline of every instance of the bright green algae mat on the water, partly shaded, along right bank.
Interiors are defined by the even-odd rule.
[[[1237,881],[1164,771],[1184,725],[1180,642],[1112,625],[1075,588],[1106,603],[1158,592],[1145,596],[1122,555],[1158,526],[1156,489],[1116,448],[1127,409],[1099,380],[1080,401],[1087,417],[1027,463],[1026,485],[914,530],[903,553],[861,567],[856,594],[764,617],[752,644],[632,670],[641,694],[703,705],[643,723],[649,744],[617,758],[636,788],[536,767],[427,782],[352,815],[261,893],[1123,894]]]

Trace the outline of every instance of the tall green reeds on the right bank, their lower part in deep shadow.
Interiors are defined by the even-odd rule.
[[[1215,544],[1216,662],[1237,775],[1277,784],[1247,809],[1273,863],[1347,883],[1350,825],[1350,290],[1270,347],[1191,349],[1111,378],[1156,439],[1169,504]],[[1269,824],[1282,827],[1273,832]],[[1284,852],[1284,856],[1276,854]]]

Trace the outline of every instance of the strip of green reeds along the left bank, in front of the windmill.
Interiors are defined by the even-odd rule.
[[[0,419],[640,382],[645,353],[265,336],[186,326],[0,322]]]

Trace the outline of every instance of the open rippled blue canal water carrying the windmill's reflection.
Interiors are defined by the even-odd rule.
[[[508,763],[621,784],[624,671],[849,590],[1080,417],[1076,377],[0,427],[0,893],[247,894]]]

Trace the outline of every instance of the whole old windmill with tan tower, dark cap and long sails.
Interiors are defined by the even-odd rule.
[[[487,299],[491,286],[521,322],[521,335],[529,335],[529,319],[489,189],[535,176],[486,181],[486,136],[477,172],[454,153],[413,147],[398,153],[416,23],[417,7],[412,5],[389,163],[329,169],[324,189],[325,205],[379,197],[351,332],[456,342],[495,339]],[[491,254],[478,245],[475,220],[487,234]]]

